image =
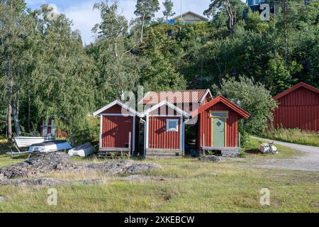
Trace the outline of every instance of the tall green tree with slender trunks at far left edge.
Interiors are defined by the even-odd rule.
[[[8,109],[8,136],[12,137],[11,115],[16,135],[21,135],[18,116],[18,100],[22,75],[28,76],[28,40],[33,30],[23,0],[0,1],[0,59],[1,76],[6,77],[6,96],[4,101]]]

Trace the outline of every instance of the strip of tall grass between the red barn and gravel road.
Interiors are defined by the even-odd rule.
[[[312,145],[319,147],[319,133],[307,133],[300,129],[272,129],[263,133],[263,138],[269,138],[273,140],[280,140],[289,143],[298,143],[302,145]]]

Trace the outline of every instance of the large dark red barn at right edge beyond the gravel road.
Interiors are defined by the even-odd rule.
[[[303,82],[274,96],[274,128],[319,131],[319,89]]]

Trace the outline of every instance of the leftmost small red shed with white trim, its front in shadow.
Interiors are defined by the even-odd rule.
[[[137,111],[116,100],[93,115],[100,116],[100,154],[125,152],[130,155],[138,150],[140,116]]]

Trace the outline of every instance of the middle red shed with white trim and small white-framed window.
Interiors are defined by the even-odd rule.
[[[162,101],[144,111],[145,157],[170,157],[184,155],[184,121],[186,111]]]

